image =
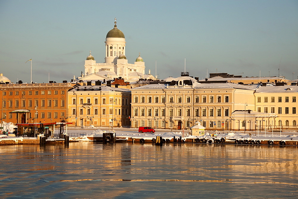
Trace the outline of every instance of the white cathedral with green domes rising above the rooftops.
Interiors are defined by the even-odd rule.
[[[85,60],[85,74],[82,72],[81,76],[75,80],[114,80],[118,77],[122,77],[128,82],[139,79],[155,80],[150,73],[145,74],[145,62],[140,55],[134,64],[128,63],[125,56],[125,43],[124,34],[117,28],[115,18],[114,28],[108,32],[105,38],[105,62],[96,63],[90,51],[90,55]]]

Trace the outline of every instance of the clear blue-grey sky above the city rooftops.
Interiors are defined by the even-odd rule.
[[[298,76],[297,0],[0,0],[0,72],[30,82],[32,58],[33,82],[70,81],[84,72],[89,51],[104,62],[115,17],[128,63],[140,52],[145,73],[160,79],[179,77],[184,61],[200,79],[207,72]]]

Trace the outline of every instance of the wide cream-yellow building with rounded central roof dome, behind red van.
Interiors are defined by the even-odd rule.
[[[198,83],[183,76],[170,84],[149,84],[131,89],[131,126],[189,129],[196,121],[207,130],[232,130],[235,110],[254,109],[257,86],[233,83]],[[232,122],[232,124],[231,124]]]

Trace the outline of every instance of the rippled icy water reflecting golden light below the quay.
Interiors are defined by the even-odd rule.
[[[297,198],[297,147],[79,142],[0,147],[0,198]]]

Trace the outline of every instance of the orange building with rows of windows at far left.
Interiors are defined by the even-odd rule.
[[[1,122],[67,122],[71,83],[0,84]]]

